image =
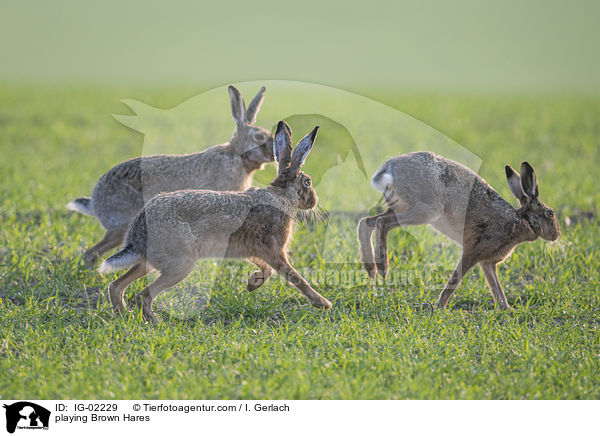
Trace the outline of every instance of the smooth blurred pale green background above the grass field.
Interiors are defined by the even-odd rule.
[[[600,2],[2,1],[0,80],[600,90]]]

